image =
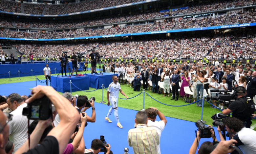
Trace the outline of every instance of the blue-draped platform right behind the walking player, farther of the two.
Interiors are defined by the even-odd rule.
[[[92,75],[92,74],[87,73],[87,76],[91,77],[90,87],[96,88],[96,89],[101,87],[102,84],[104,85],[104,87],[108,87],[109,84],[111,84],[113,82],[113,80],[112,80],[113,75],[117,76],[117,74],[111,74],[111,73],[103,73],[103,75],[99,75],[99,74]]]

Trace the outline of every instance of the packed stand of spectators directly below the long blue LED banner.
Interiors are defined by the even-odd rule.
[[[1,33],[0,33],[1,34]],[[170,36],[146,40],[111,40],[71,43],[11,43],[6,46],[17,47],[26,56],[32,52],[34,57],[57,57],[63,51],[85,53],[93,47],[104,57],[170,57],[199,59],[207,56],[214,58],[247,58],[255,59],[256,29],[238,29],[233,31]],[[115,59],[116,60],[116,59]]]

